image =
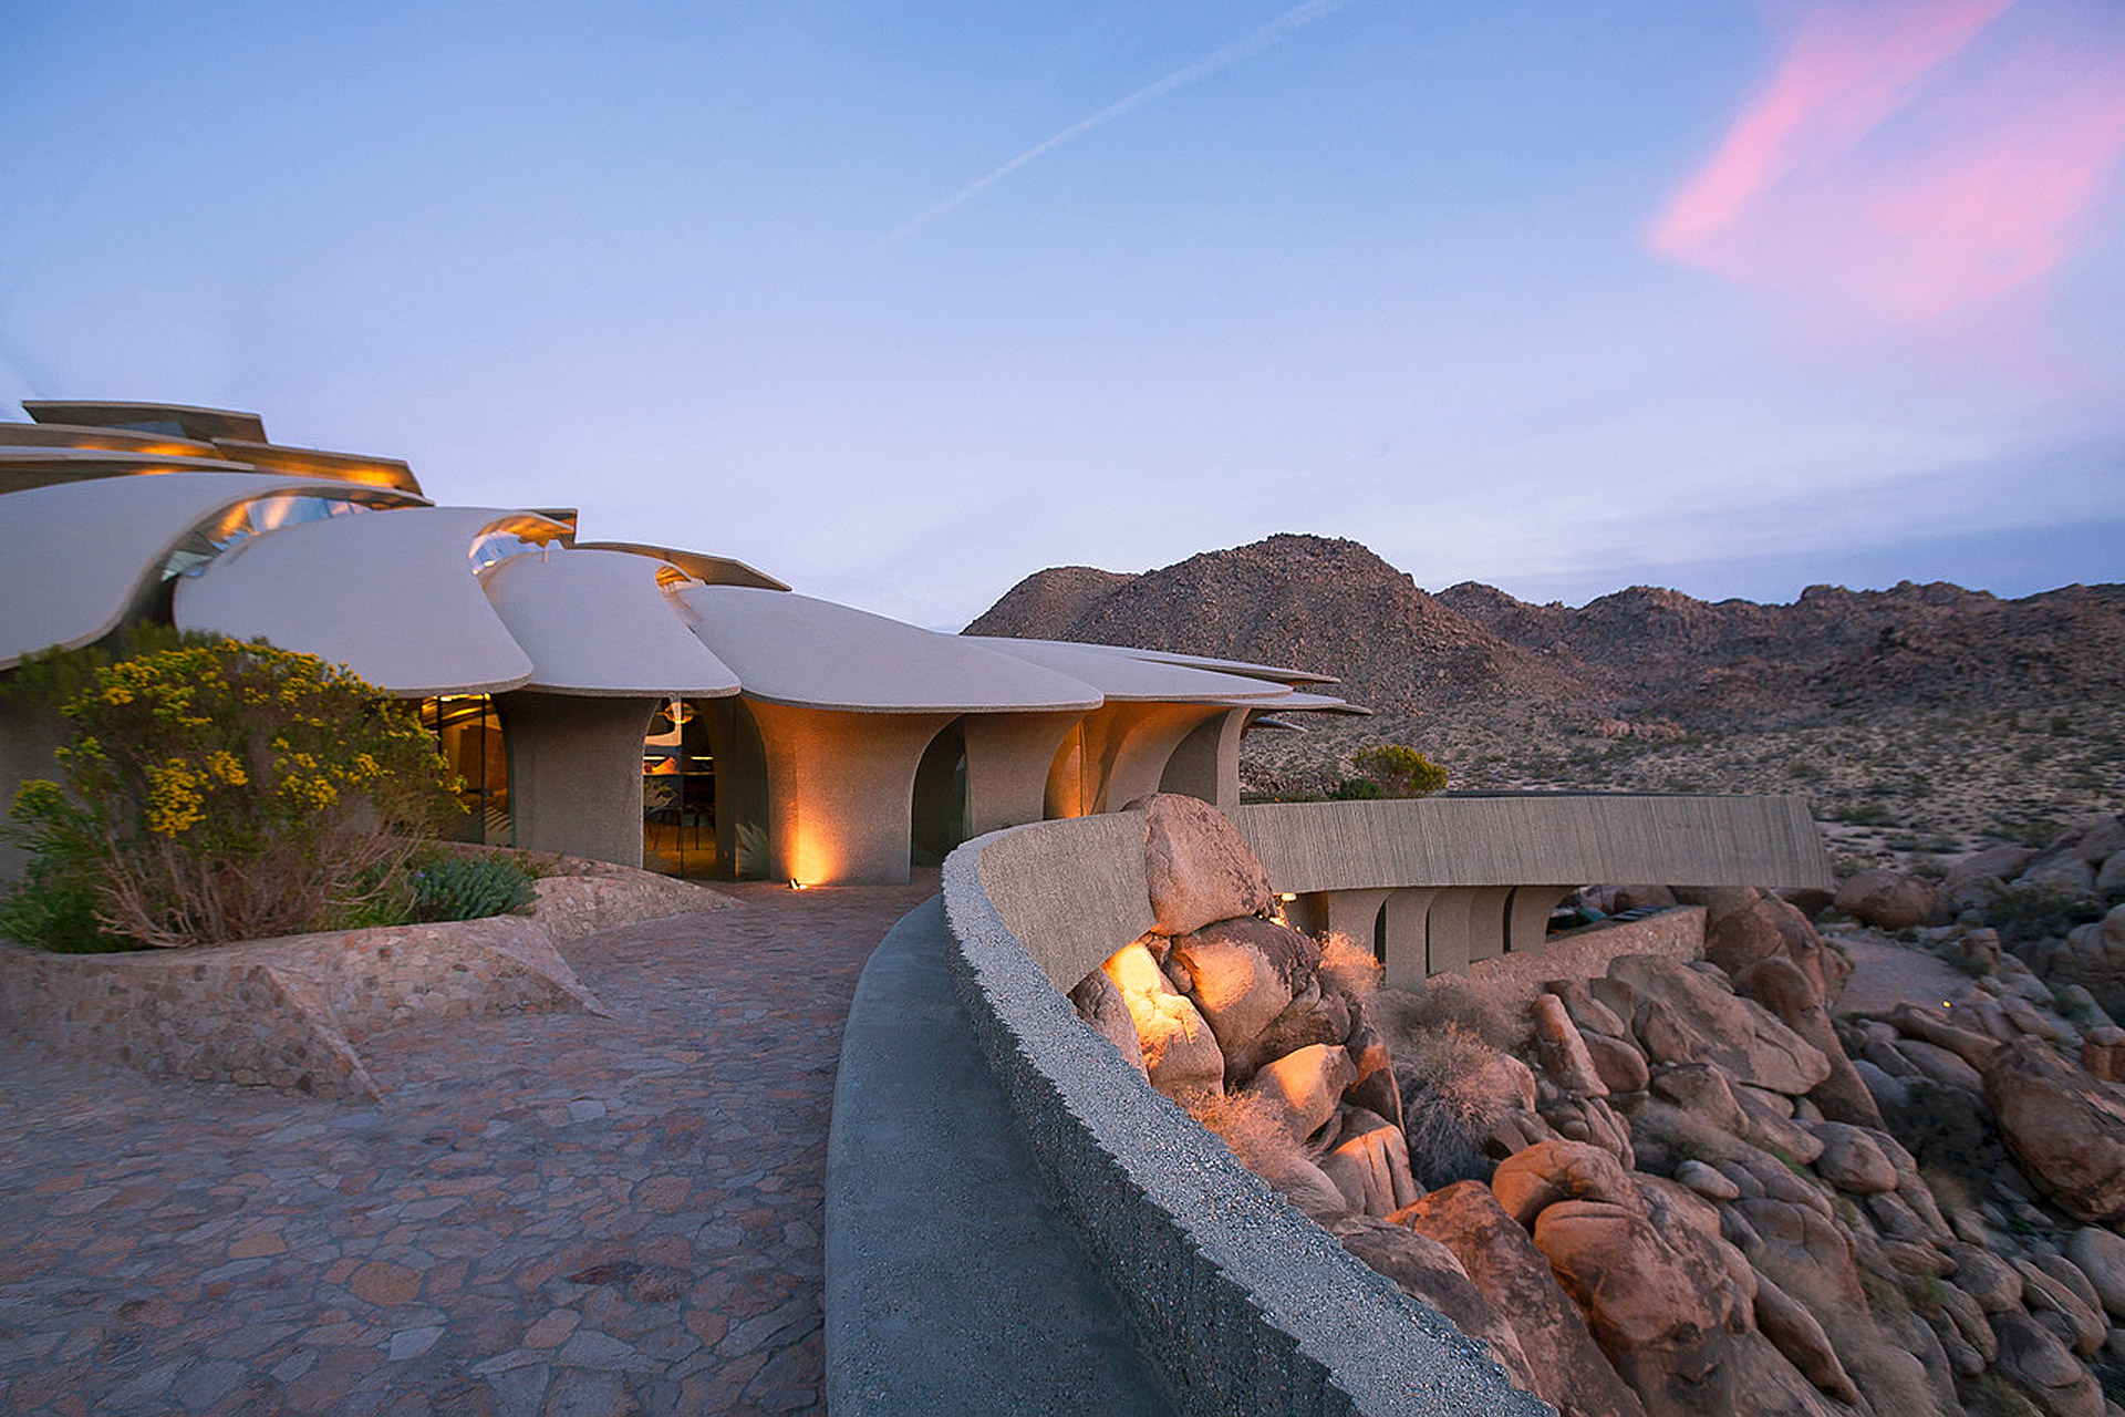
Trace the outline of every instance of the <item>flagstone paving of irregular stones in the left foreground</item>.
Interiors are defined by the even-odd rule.
[[[563,945],[378,1105],[0,1041],[0,1413],[816,1413],[842,1024],[912,886]]]

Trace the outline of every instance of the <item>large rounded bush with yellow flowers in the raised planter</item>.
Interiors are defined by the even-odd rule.
[[[329,928],[457,809],[404,705],[264,642],[185,635],[89,663],[60,712],[64,782],[23,782],[6,829],[38,858],[17,924],[64,901],[79,924],[89,899],[140,945]]]

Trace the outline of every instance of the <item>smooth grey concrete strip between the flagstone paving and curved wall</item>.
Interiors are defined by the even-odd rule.
[[[829,1402],[837,1417],[1173,1411],[1012,1128],[948,950],[944,905],[918,905],[850,1007],[827,1149]]]

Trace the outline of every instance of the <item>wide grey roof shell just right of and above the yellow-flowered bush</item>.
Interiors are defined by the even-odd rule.
[[[181,580],[174,618],[236,639],[264,635],[406,699],[518,688],[531,680],[531,656],[487,603],[468,554],[482,533],[512,523],[559,533],[502,508],[404,508],[283,527]]]

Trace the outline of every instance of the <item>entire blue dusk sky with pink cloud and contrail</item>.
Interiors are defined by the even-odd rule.
[[[2114,0],[13,0],[0,419],[259,412],[956,629],[2125,580]]]

